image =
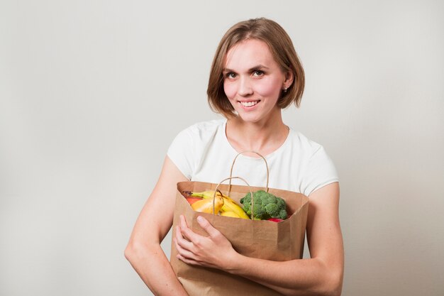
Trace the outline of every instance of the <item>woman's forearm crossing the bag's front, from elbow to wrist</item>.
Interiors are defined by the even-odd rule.
[[[340,295],[343,270],[323,261],[267,261],[238,255],[229,273],[243,276],[283,295]]]

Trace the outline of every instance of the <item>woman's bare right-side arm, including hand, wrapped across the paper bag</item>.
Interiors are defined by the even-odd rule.
[[[189,264],[249,278],[284,295],[340,295],[344,259],[338,205],[338,183],[310,195],[307,220],[310,259],[279,262],[240,255],[205,219],[199,223],[209,233],[207,238],[192,233],[182,220],[179,234],[174,238],[179,258]],[[181,231],[186,239],[180,236]]]

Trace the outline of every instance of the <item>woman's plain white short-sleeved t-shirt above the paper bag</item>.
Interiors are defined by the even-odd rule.
[[[181,131],[172,141],[167,155],[189,180],[218,184],[230,177],[238,151],[226,137],[226,119],[216,119]],[[325,185],[338,182],[335,166],[323,147],[292,128],[282,146],[264,157],[270,171],[271,188],[309,196]],[[243,177],[251,186],[265,187],[265,162],[262,158],[239,155],[233,167],[234,176]],[[233,179],[232,184],[245,185],[238,179]]]

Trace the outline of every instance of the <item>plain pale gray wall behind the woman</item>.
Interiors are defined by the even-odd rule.
[[[443,295],[443,1],[0,2],[0,295],[150,295],[123,257],[218,40],[266,16],[340,174],[343,295]],[[170,236],[163,243],[170,253]]]

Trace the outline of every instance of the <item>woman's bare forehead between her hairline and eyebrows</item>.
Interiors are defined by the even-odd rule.
[[[226,54],[225,68],[243,69],[255,65],[277,66],[270,48],[262,40],[243,40],[230,48]]]

